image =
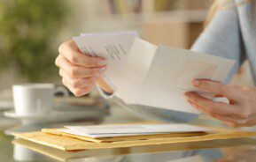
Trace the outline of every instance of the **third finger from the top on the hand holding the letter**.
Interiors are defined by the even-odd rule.
[[[81,77],[81,78],[71,78],[68,76],[66,71],[59,70],[59,75],[64,77],[67,84],[73,88],[83,88],[87,86],[94,85],[98,79],[98,77]]]

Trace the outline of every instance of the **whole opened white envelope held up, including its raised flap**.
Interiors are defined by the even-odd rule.
[[[122,76],[124,82],[116,93],[127,104],[199,114],[196,108],[188,104],[184,93],[198,92],[209,99],[213,98],[213,93],[199,91],[191,85],[191,81],[203,78],[223,82],[235,63],[233,60],[167,46],[159,46],[151,57],[142,50],[146,46],[144,40],[136,39],[128,55],[128,63]],[[154,52],[155,49],[151,51]],[[136,60],[139,54],[143,55]],[[143,72],[134,70],[133,66],[142,66],[140,62],[144,63],[144,60],[151,62],[150,67],[144,66]]]

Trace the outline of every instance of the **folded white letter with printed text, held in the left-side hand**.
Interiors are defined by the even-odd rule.
[[[82,33],[80,37],[73,40],[85,55],[100,56],[107,60],[105,71],[105,82],[116,90],[121,82],[124,65],[134,39],[138,36],[136,32],[118,33]]]

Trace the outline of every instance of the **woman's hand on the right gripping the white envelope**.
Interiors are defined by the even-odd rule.
[[[244,85],[223,85],[211,80],[193,80],[198,89],[214,92],[229,99],[229,104],[206,99],[196,92],[186,92],[190,105],[221,120],[231,127],[256,125],[256,87]]]

